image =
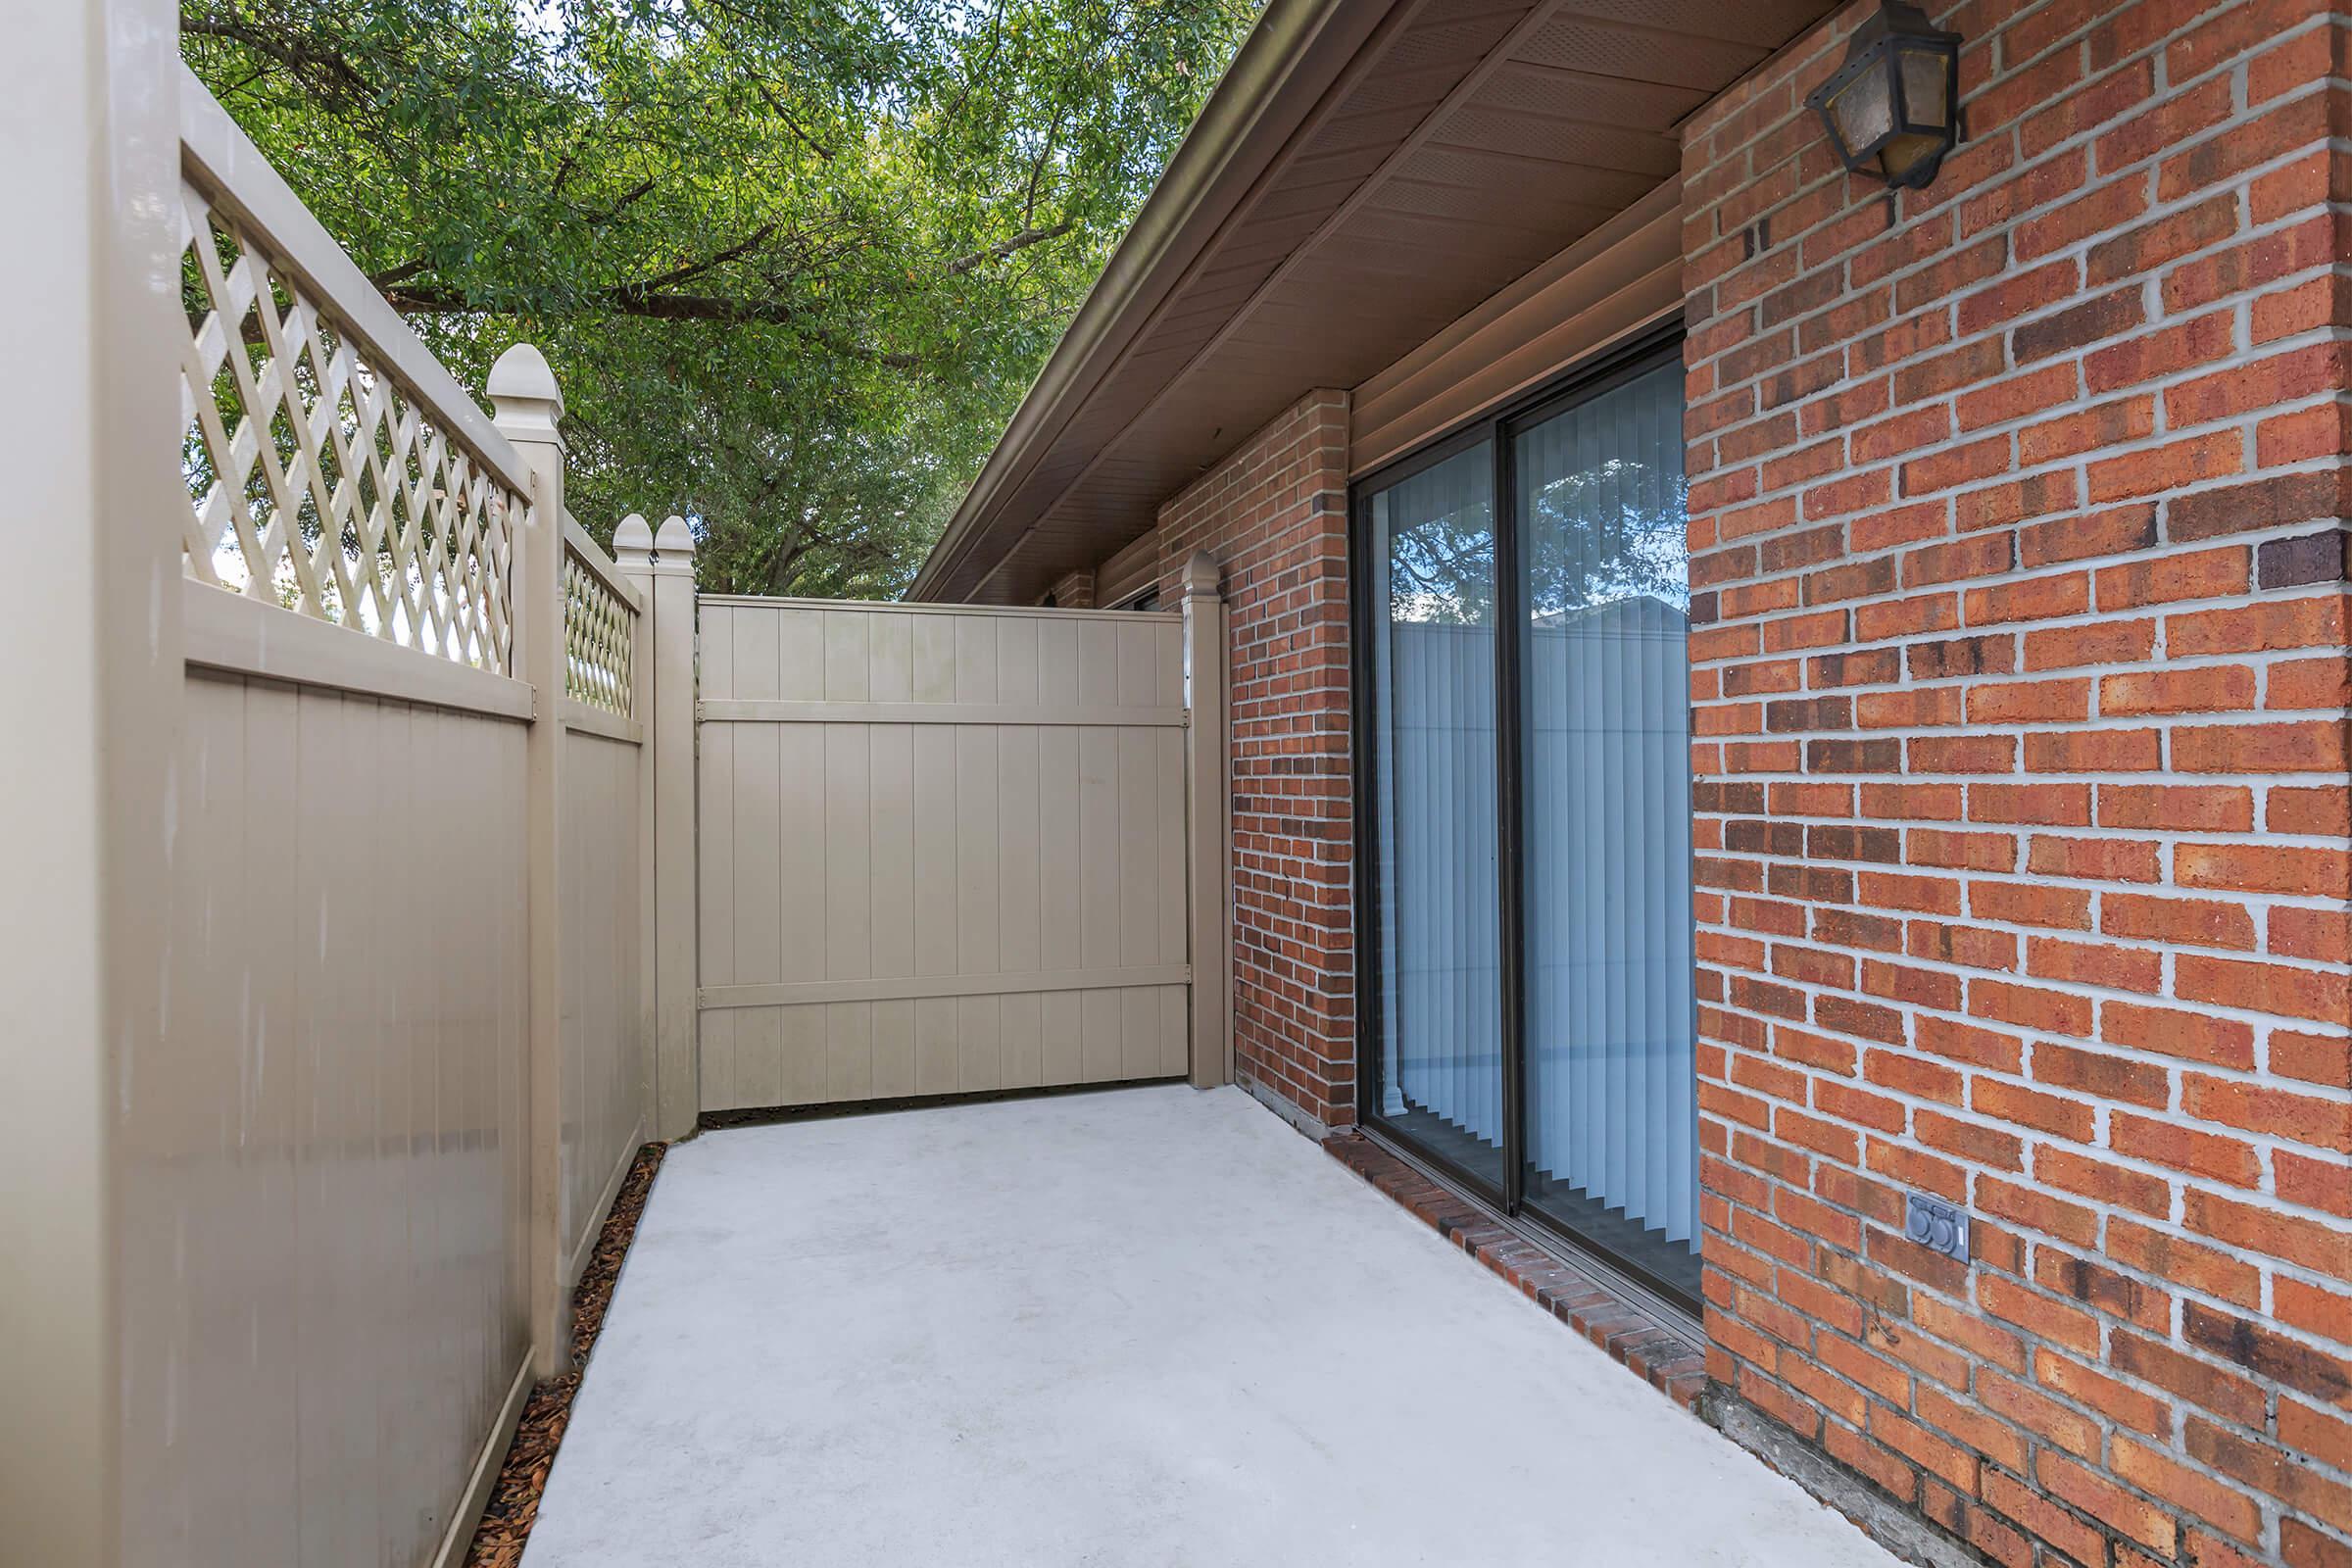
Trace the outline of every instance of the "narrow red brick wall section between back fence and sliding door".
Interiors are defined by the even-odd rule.
[[[1164,604],[1192,550],[1223,567],[1230,616],[1235,1058],[1352,1124],[1345,393],[1308,393],[1160,508]]]

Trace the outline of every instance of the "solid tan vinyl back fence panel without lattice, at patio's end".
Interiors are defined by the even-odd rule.
[[[701,604],[703,1110],[1188,1074],[1178,616]]]

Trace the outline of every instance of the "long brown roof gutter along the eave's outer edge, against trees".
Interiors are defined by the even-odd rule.
[[[908,599],[948,599],[957,592],[950,581],[983,543],[993,515],[1136,341],[1150,313],[1209,247],[1388,9],[1364,0],[1272,0],[1265,7],[931,545]]]

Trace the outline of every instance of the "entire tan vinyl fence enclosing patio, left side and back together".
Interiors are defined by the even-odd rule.
[[[0,1556],[454,1563],[644,1138],[1230,1079],[1216,574],[713,599],[699,936],[691,531],[597,548],[546,360],[485,416],[103,19],[7,96]]]

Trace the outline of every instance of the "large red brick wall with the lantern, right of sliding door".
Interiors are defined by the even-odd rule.
[[[2345,1568],[2347,35],[1931,9],[1933,188],[1858,12],[1684,143],[1710,1371],[2002,1563]]]

